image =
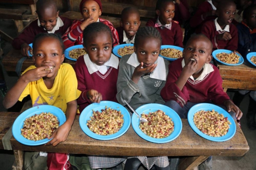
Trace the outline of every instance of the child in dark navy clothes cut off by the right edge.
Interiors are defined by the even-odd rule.
[[[256,51],[256,5],[244,9],[243,21],[236,27],[238,29],[238,48],[237,51],[245,58],[250,52]],[[233,102],[239,106],[244,99],[244,95],[249,93],[247,90],[237,91]],[[250,130],[256,130],[256,91],[250,91],[249,106],[246,114],[247,125]]]

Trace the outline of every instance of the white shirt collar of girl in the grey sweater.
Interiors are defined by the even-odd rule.
[[[135,52],[133,54],[131,54],[130,58],[127,61],[127,64],[129,64],[135,68],[138,65],[140,65],[140,62],[138,61],[138,58],[137,58],[137,55],[135,54]],[[157,64],[157,67],[150,74],[150,78],[166,81],[166,67],[165,67],[164,59],[159,56],[157,58],[157,61],[155,62],[155,64]]]

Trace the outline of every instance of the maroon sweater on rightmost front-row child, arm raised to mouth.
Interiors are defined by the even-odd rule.
[[[207,74],[204,79],[194,81],[189,78],[180,91],[175,82],[183,69],[182,60],[183,58],[176,59],[169,65],[166,84],[160,93],[165,101],[175,100],[183,107],[184,103],[187,102],[202,103],[209,100],[217,105],[223,105],[225,100],[230,99],[227,93],[223,91],[221,75],[214,65],[212,65],[214,71]]]

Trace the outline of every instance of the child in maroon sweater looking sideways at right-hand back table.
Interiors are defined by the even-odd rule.
[[[233,0],[218,3],[215,20],[207,21],[202,26],[202,34],[206,35],[213,45],[212,50],[227,49],[235,51],[238,43],[237,28],[232,24],[236,4]]]

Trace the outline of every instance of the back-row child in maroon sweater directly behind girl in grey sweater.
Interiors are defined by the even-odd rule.
[[[176,45],[183,47],[183,35],[179,24],[172,19],[175,15],[173,0],[157,0],[157,18],[151,19],[146,26],[157,28],[162,37],[162,45]]]

